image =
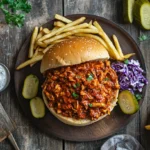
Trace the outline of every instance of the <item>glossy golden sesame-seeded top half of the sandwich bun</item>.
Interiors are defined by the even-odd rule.
[[[98,59],[109,59],[109,54],[103,45],[90,37],[75,37],[50,48],[43,56],[40,71],[44,73],[52,68]]]

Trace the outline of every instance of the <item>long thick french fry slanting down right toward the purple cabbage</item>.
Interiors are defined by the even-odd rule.
[[[119,56],[119,53],[117,52],[115,46],[113,45],[113,43],[111,42],[111,40],[109,39],[109,37],[107,36],[107,34],[103,31],[103,29],[101,28],[101,26],[99,25],[99,23],[97,21],[94,21],[94,26],[99,30],[99,35],[105,40],[105,42],[107,43],[109,49],[108,53],[110,54],[110,56],[113,59],[116,60],[123,60],[124,58],[121,58]]]

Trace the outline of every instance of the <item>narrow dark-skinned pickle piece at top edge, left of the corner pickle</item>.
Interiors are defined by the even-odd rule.
[[[123,16],[126,23],[133,22],[133,6],[135,0],[123,0]]]

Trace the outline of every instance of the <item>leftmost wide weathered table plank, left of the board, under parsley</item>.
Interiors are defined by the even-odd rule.
[[[3,14],[0,12],[0,62],[10,69],[11,83],[0,94],[0,101],[9,116],[16,122],[18,129],[14,132],[16,141],[21,150],[47,150],[63,149],[62,140],[49,137],[36,129],[24,116],[15,94],[13,72],[17,53],[27,35],[34,26],[40,26],[53,18],[55,13],[62,14],[62,0],[30,0],[32,10],[27,15],[24,27],[10,28],[4,23]],[[0,143],[0,150],[13,150],[8,140]]]

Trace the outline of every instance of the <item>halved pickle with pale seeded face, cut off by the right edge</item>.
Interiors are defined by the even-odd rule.
[[[150,30],[150,2],[137,0],[134,6],[135,22],[145,30]]]

